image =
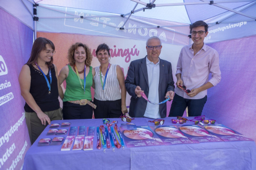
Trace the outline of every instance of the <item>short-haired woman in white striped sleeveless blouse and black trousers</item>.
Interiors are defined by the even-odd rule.
[[[93,76],[93,88],[95,88],[93,102],[97,106],[94,109],[95,118],[119,118],[122,113],[128,112],[124,73],[119,65],[109,63],[108,45],[100,44],[96,49],[96,57],[100,66],[95,67],[95,76]]]

